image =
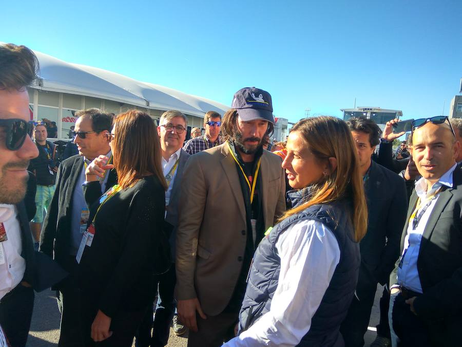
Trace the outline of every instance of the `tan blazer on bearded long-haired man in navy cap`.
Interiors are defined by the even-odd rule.
[[[281,158],[263,151],[260,165],[265,230],[285,210]],[[220,314],[233,295],[247,240],[245,206],[227,142],[192,155],[183,173],[177,229],[177,299],[198,298]]]

